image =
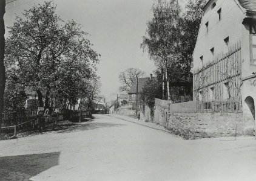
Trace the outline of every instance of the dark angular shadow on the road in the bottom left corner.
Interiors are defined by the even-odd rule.
[[[29,180],[59,164],[60,152],[0,157],[0,180]]]

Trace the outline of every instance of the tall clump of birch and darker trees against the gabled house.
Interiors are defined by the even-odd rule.
[[[162,98],[170,98],[170,81],[192,82],[192,55],[205,0],[189,0],[181,12],[177,0],[155,1],[141,48],[147,51],[162,77]]]

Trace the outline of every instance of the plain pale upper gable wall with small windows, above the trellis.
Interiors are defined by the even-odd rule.
[[[212,3],[216,6],[212,9]],[[218,20],[217,11],[221,8],[221,20]],[[201,21],[198,33],[197,45],[194,50],[194,68],[202,67],[200,57],[203,56],[203,63],[212,62],[221,52],[227,52],[227,45],[224,42],[229,37],[229,45],[241,40],[243,33],[243,19],[245,15],[234,0],[215,0],[209,4]],[[206,33],[206,23],[208,22],[208,33]],[[211,48],[214,47],[214,56]]]

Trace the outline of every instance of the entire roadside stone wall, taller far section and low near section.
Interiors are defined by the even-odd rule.
[[[242,113],[198,113],[197,103],[169,104],[156,100],[153,122],[184,138],[253,135],[246,132]]]

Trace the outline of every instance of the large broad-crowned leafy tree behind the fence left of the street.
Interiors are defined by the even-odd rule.
[[[38,94],[39,106],[45,107],[49,107],[51,94],[64,96],[61,93],[65,90],[69,93],[64,98],[75,104],[79,80],[90,77],[100,56],[84,38],[86,33],[79,25],[62,21],[55,9],[52,2],[45,2],[25,10],[24,19],[16,17],[10,27],[6,47],[6,63],[18,63],[17,82],[32,86]]]

